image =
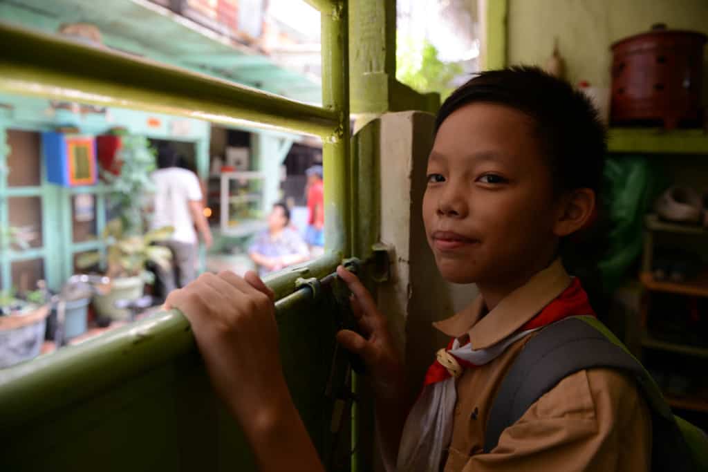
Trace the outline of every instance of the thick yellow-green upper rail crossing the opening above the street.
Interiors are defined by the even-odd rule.
[[[0,23],[0,90],[148,110],[226,125],[249,123],[336,141],[341,110],[319,108],[54,35]],[[332,105],[330,103],[329,105]]]

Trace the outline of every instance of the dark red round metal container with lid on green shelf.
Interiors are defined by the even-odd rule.
[[[706,35],[667,30],[612,45],[612,124],[702,125],[703,46]]]

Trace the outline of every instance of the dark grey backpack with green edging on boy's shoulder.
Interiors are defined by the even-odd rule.
[[[573,316],[553,323],[526,343],[492,403],[484,451],[494,449],[503,430],[564,377],[593,367],[619,369],[636,379],[651,410],[652,471],[708,471],[705,432],[671,413],[649,372],[593,316]]]

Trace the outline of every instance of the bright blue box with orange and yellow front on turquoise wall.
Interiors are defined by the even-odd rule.
[[[96,140],[90,136],[42,133],[47,180],[62,187],[95,185],[98,178]]]

